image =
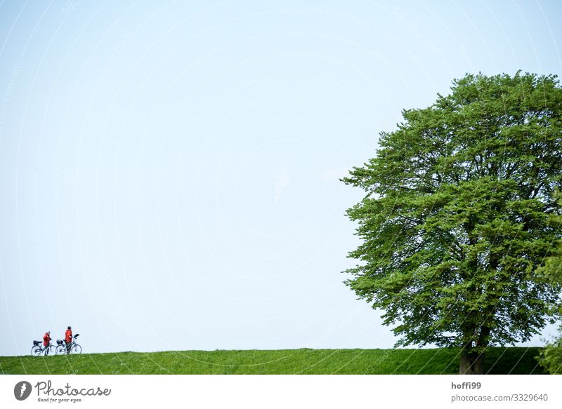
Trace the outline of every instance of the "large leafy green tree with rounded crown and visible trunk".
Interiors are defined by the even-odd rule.
[[[366,192],[347,211],[361,244],[346,285],[397,346],[460,347],[459,372],[480,374],[488,346],[539,333],[561,290],[535,269],[561,238],[562,90],[554,75],[469,74],[403,118],[343,179]]]

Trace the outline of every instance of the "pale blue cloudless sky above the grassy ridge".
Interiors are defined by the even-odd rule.
[[[0,0],[0,355],[389,348],[339,182],[466,73],[561,74],[561,1]],[[554,333],[525,345],[540,345]]]

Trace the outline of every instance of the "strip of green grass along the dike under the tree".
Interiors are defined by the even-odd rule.
[[[539,348],[490,348],[485,372],[542,374]],[[459,349],[276,349],[0,356],[4,374],[455,374]]]

